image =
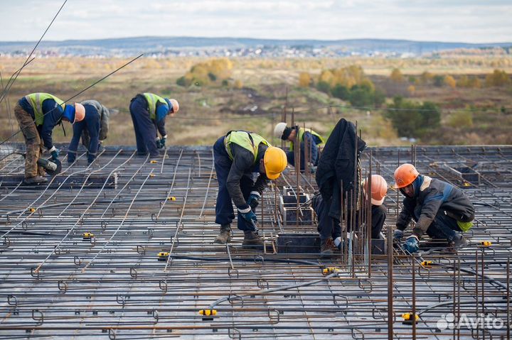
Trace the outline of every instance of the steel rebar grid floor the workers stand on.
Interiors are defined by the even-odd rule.
[[[22,185],[21,155],[1,162],[0,339],[510,339],[511,146],[363,153],[363,173],[392,184],[414,163],[476,207],[470,246],[414,257],[361,241],[321,258],[303,204],[314,175],[290,167],[257,208],[260,251],[242,248],[235,222],[228,245],[213,243],[212,148],[79,155],[36,188]],[[401,200],[388,191],[385,236]]]

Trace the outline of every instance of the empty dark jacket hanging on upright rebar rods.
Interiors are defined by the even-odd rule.
[[[316,184],[326,202],[332,198],[329,216],[334,219],[341,216],[341,183],[343,182],[343,193],[358,185],[353,182],[354,169],[358,163],[356,138],[359,158],[366,143],[357,136],[356,126],[352,122],[340,119],[327,139],[316,168]]]

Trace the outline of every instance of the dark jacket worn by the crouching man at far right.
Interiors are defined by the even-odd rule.
[[[474,206],[468,197],[458,187],[420,175],[420,190],[415,197],[405,197],[404,207],[398,215],[397,229],[404,230],[415,219],[416,226],[413,234],[422,236],[429,228],[439,211],[461,222],[470,222],[474,219]]]

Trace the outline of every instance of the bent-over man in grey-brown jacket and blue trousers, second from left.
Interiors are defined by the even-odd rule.
[[[82,143],[87,148],[87,162],[90,164],[96,159],[97,150],[100,147],[100,136],[103,139],[107,138],[109,111],[100,102],[92,99],[80,104],[85,108],[85,118],[73,124],[73,138],[68,147],[68,163],[75,162],[78,142],[82,137]],[[107,121],[107,124],[102,124],[104,121]]]

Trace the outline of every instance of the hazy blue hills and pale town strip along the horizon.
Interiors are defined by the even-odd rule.
[[[35,42],[0,42],[0,55],[24,56]],[[509,55],[512,43],[469,44],[410,40],[262,40],[240,38],[121,38],[43,42],[38,57],[439,57],[446,53]]]

